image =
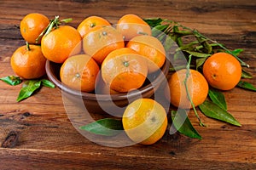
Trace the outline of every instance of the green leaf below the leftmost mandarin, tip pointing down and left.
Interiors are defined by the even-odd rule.
[[[20,89],[20,94],[17,98],[17,101],[26,99],[30,97],[38,88],[41,86],[41,81],[39,80],[29,80],[23,84],[23,87]]]

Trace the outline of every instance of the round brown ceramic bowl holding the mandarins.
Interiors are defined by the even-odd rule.
[[[160,71],[156,71],[152,75],[148,76],[147,81],[143,84],[142,88],[131,91],[127,94],[94,94],[84,93],[72,88],[68,88],[61,83],[60,80],[60,68],[61,64],[56,64],[47,60],[46,73],[49,80],[54,82],[56,87],[61,89],[62,97],[72,100],[74,103],[78,103],[81,100],[84,102],[84,106],[90,113],[103,113],[111,112],[111,114],[117,115],[124,111],[125,106],[131,103],[131,101],[138,98],[150,98],[156,90],[160,88],[162,82],[166,82],[166,76],[169,71],[170,62],[166,59],[165,64]]]

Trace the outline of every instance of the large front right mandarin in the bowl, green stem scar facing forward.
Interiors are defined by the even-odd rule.
[[[147,74],[145,59],[131,48],[114,50],[102,63],[103,81],[121,93],[142,87]]]

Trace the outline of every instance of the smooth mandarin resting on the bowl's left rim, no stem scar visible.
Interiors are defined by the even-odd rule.
[[[72,26],[59,26],[49,34],[45,34],[41,41],[41,48],[45,58],[55,63],[63,63],[69,56],[79,54],[82,37]]]

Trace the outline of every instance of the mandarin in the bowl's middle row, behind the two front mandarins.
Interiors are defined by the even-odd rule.
[[[101,65],[107,55],[115,49],[124,48],[122,35],[113,26],[96,26],[83,38],[83,49]]]

